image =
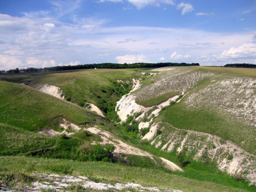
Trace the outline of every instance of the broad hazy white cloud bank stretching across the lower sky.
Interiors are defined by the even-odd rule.
[[[116,62],[116,56],[127,55],[134,56],[130,59],[132,63],[142,62],[138,57],[140,55],[143,55],[145,62],[149,60],[158,62],[161,57],[169,59],[170,53],[174,50],[175,58],[179,58],[180,62],[183,60],[194,62],[191,58],[199,58],[203,55],[209,58],[209,62],[226,64],[226,57],[220,57],[224,50],[253,43],[256,37],[255,31],[218,33],[188,28],[105,27],[102,25],[102,20],[73,19],[75,22],[70,25],[48,17],[13,17],[0,14],[0,28],[3,29],[0,30],[0,54],[4,57],[12,56],[9,58],[12,60],[10,63],[16,63],[5,64],[4,68],[1,63],[1,68],[51,66],[54,64],[53,61],[54,65],[68,64],[70,61],[73,61],[71,64],[78,61],[85,64]],[[55,23],[53,30],[42,29],[46,23]],[[120,42],[125,42],[125,46]],[[248,59],[243,59],[241,62],[254,63],[255,56],[252,56],[251,52],[244,52],[243,55],[241,58]],[[238,62],[237,58],[229,57],[229,62]],[[15,59],[20,62],[14,62]],[[201,64],[204,60],[197,62]]]

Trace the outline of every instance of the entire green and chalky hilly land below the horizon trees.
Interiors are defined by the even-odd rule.
[[[1,74],[0,180],[254,191],[255,77],[199,66]]]

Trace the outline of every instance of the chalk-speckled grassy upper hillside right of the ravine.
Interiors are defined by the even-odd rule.
[[[256,70],[248,68],[172,67],[143,81],[133,95],[137,103],[152,106],[183,89],[188,94],[164,110],[161,120],[177,128],[220,136],[256,154],[255,77]],[[157,92],[152,95],[153,87]]]

